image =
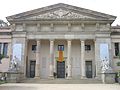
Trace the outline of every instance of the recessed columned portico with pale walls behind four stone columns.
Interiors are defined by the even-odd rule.
[[[31,49],[36,45],[36,51]],[[63,57],[64,57],[64,70],[58,71],[58,46],[63,45]],[[91,45],[91,51],[85,50],[85,45]],[[28,60],[27,60],[27,77],[31,70],[30,62],[35,61],[34,76],[39,78],[54,78],[54,73],[64,72],[64,78],[86,78],[86,62],[92,62],[92,77],[96,76],[95,73],[95,57],[94,57],[94,42],[93,40],[83,39],[51,39],[51,40],[29,40],[28,41]],[[87,48],[87,47],[86,47]],[[87,57],[87,56],[88,57]],[[92,56],[90,56],[92,55]],[[86,56],[86,58],[85,58]],[[60,62],[62,63],[62,62]],[[44,75],[46,74],[46,75]]]

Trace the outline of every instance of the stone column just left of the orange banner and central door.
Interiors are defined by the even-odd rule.
[[[49,78],[53,79],[53,61],[54,61],[54,40],[50,40],[50,62],[49,62]]]

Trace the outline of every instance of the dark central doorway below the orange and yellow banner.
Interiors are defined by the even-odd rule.
[[[57,61],[57,78],[65,78],[65,61]]]

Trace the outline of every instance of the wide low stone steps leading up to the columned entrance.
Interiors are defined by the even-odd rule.
[[[37,84],[100,84],[98,79],[34,79],[27,78],[22,83],[37,83]]]

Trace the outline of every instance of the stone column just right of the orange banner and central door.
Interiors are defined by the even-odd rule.
[[[71,67],[71,40],[67,41],[67,68],[68,68],[68,76],[67,79],[72,78],[72,67]]]

